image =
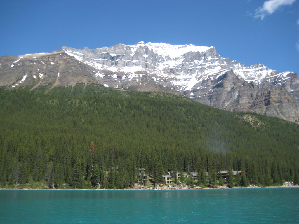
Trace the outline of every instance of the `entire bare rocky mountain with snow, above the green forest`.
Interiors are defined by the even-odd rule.
[[[214,47],[139,42],[97,49],[62,47],[0,58],[7,88],[97,82],[115,88],[183,94],[229,111],[254,111],[299,121],[299,78],[222,58]]]

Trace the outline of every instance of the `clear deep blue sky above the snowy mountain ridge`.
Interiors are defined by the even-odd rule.
[[[299,0],[0,0],[0,56],[144,42],[299,73]]]

